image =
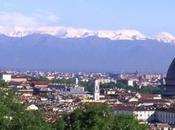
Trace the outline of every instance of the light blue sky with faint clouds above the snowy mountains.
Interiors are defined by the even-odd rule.
[[[0,0],[0,26],[136,29],[175,34],[175,0]]]

